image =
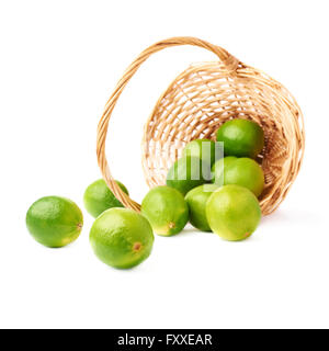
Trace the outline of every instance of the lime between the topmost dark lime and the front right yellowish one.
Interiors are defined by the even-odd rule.
[[[259,196],[264,189],[263,170],[251,158],[238,158],[224,169],[224,185],[227,184],[248,188]]]

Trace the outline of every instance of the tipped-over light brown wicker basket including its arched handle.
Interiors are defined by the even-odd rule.
[[[263,215],[272,213],[286,196],[303,160],[305,135],[300,109],[280,82],[242,64],[222,47],[194,37],[173,37],[151,45],[118,81],[98,128],[98,160],[104,180],[126,207],[139,211],[140,205],[122,192],[110,172],[105,157],[109,122],[117,99],[139,66],[151,54],[177,45],[206,48],[219,60],[190,66],[156,103],[143,138],[143,168],[148,185],[164,184],[168,169],[186,143],[195,138],[215,140],[224,122],[248,118],[259,123],[265,134],[265,146],[258,157],[265,174],[260,204]]]

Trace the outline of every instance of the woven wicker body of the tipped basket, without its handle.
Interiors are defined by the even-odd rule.
[[[264,149],[257,158],[265,174],[261,203],[270,197],[277,200],[280,190],[295,177],[292,166],[297,167],[292,163],[296,147],[291,144],[300,133],[300,111],[290,99],[283,86],[247,66],[235,76],[218,63],[190,67],[159,99],[146,125],[144,165],[148,184],[166,183],[168,169],[189,141],[215,140],[223,123],[245,118],[257,122],[265,136]],[[298,152],[302,137],[297,140]]]

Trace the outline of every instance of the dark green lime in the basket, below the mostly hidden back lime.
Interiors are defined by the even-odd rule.
[[[209,182],[211,165],[198,157],[182,157],[168,171],[167,185],[185,195],[191,189]]]

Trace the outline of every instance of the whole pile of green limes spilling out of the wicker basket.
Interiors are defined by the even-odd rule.
[[[177,235],[189,220],[226,240],[248,238],[261,219],[258,197],[264,174],[256,159],[263,146],[264,134],[257,123],[224,123],[217,143],[195,139],[185,146],[168,171],[167,185],[151,189],[143,200],[141,214],[123,208],[104,180],[90,184],[83,200],[97,218],[90,230],[95,254],[111,267],[135,267],[150,254],[154,231]],[[117,181],[117,185],[128,194],[124,184]],[[64,247],[79,237],[83,217],[70,200],[47,196],[29,208],[26,225],[38,242]]]

